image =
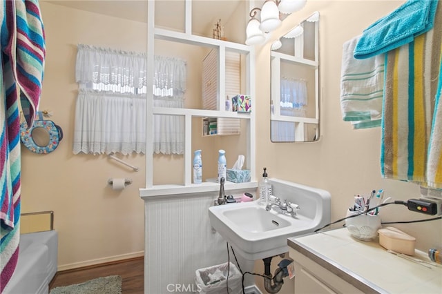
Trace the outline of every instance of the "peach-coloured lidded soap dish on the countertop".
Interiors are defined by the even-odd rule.
[[[386,228],[380,228],[379,244],[387,250],[392,250],[397,253],[404,253],[406,255],[414,255],[414,244],[416,238],[407,235],[401,230],[392,226]]]

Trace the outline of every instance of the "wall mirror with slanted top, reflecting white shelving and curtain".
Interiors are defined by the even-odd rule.
[[[320,135],[319,12],[271,45],[271,141]]]

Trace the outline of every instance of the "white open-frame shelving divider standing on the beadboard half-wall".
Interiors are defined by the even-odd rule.
[[[140,197],[161,197],[166,195],[186,195],[194,193],[205,193],[219,190],[218,183],[203,183],[192,184],[191,182],[191,169],[192,169],[192,157],[193,152],[191,150],[191,138],[192,137],[192,119],[193,117],[218,117],[218,118],[236,118],[244,119],[247,121],[246,134],[247,135],[247,162],[245,166],[251,170],[251,182],[234,184],[227,182],[225,185],[226,190],[237,190],[256,188],[258,183],[256,182],[256,164],[255,164],[255,113],[239,113],[228,112],[224,110],[226,93],[224,89],[225,83],[225,59],[226,50],[239,52],[242,56],[246,57],[246,89],[248,95],[255,97],[255,55],[254,48],[246,46],[240,43],[233,43],[229,41],[222,41],[219,39],[212,39],[209,37],[202,37],[198,35],[192,35],[191,33],[191,11],[192,1],[185,1],[185,26],[184,32],[176,32],[172,30],[165,30],[162,28],[155,28],[155,1],[148,1],[148,23],[147,23],[147,66],[153,68],[153,56],[154,56],[154,42],[155,39],[163,39],[167,41],[173,41],[177,43],[186,43],[195,46],[204,46],[209,48],[215,48],[218,50],[219,58],[219,75],[218,75],[218,109],[219,110],[200,110],[190,108],[158,108],[153,107],[153,94],[148,92],[147,94],[147,110],[146,110],[146,187],[140,188]],[[153,70],[147,72],[147,88],[152,88]],[[184,137],[186,138],[184,146],[184,185],[153,185],[153,115],[182,115],[184,117]]]

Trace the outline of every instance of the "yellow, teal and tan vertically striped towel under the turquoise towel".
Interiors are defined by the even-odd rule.
[[[441,6],[434,24],[386,55],[381,172],[385,178],[441,188],[442,109],[434,99],[441,67]]]

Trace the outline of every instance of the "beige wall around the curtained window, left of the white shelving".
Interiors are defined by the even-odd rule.
[[[40,110],[52,110],[64,138],[55,152],[36,155],[22,148],[22,212],[54,210],[59,232],[59,269],[142,255],[145,159],[125,160],[140,167],[135,173],[104,155],[73,155],[77,84],[77,44],[144,52],[146,24],[81,12],[42,2],[46,30],[46,68]],[[115,38],[118,36],[118,38]],[[122,191],[108,178],[131,178]]]

